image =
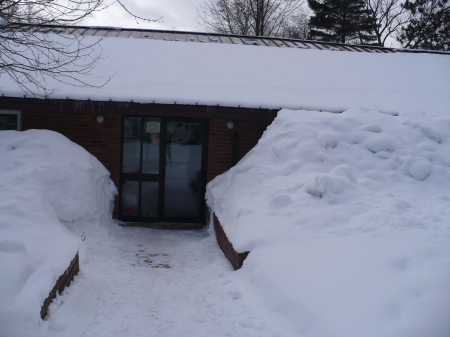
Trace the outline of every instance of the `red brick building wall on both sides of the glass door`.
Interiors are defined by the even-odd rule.
[[[103,114],[99,124],[93,113],[49,113],[41,110],[22,111],[22,130],[48,129],[57,131],[81,145],[97,157],[111,173],[111,179],[119,187],[121,127],[120,114]],[[233,133],[237,133],[239,161],[258,142],[271,122],[234,120],[234,128],[227,128],[227,120],[209,120],[207,181],[232,167]],[[114,217],[118,218],[118,198],[115,200]]]

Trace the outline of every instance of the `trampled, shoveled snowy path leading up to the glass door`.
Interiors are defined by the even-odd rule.
[[[114,226],[85,249],[82,272],[50,307],[50,337],[279,336],[206,230]]]

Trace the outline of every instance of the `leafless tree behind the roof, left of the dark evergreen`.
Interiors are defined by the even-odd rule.
[[[206,31],[286,36],[302,13],[302,0],[207,0],[197,9]],[[289,29],[288,29],[289,27]]]

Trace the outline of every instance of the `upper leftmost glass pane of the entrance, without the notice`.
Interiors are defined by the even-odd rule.
[[[139,173],[141,157],[141,118],[126,117],[123,129],[123,172]]]

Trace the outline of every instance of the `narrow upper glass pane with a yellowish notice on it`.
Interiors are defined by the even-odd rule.
[[[142,173],[159,173],[159,136],[161,118],[144,118]]]

